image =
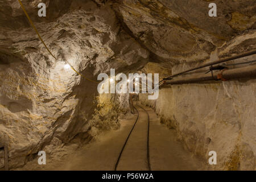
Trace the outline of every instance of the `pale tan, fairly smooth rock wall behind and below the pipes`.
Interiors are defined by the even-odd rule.
[[[255,49],[255,31],[237,36],[212,53],[209,61],[223,55],[236,55],[252,41]],[[255,60],[256,56],[230,61],[226,64]],[[172,73],[178,73],[197,64],[178,64]],[[249,64],[247,64],[248,66]],[[241,65],[240,65],[241,66]],[[232,66],[232,67],[237,67]],[[198,72],[207,72],[208,68]],[[151,69],[152,71],[152,69]],[[184,76],[185,77],[185,76]],[[142,104],[151,106],[161,122],[174,128],[188,150],[205,160],[207,169],[255,170],[256,80],[237,80],[201,84],[171,85],[159,90],[157,100],[147,100],[140,94]],[[209,151],[217,152],[217,165],[208,164]]]

